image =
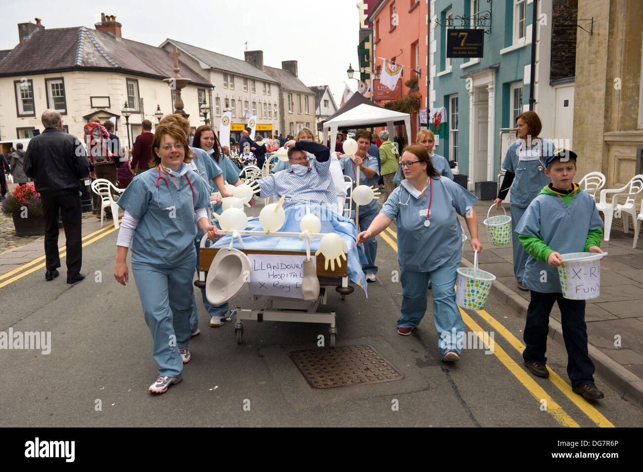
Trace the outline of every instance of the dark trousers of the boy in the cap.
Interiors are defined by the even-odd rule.
[[[545,363],[549,314],[554,302],[558,302],[563,325],[563,340],[567,350],[567,375],[572,387],[594,383],[594,365],[587,353],[587,325],[585,324],[585,301],[569,300],[562,293],[531,291],[525,324],[525,351],[523,358],[531,362]]]

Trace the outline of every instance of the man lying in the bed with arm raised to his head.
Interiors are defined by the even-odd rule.
[[[284,148],[288,150],[291,167],[257,180],[261,189],[258,196],[267,198],[285,195],[284,208],[312,203],[338,213],[337,192],[330,172],[329,148],[309,141],[288,141]],[[314,154],[315,159],[310,161],[307,152]]]

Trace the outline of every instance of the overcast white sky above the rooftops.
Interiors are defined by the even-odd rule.
[[[282,60],[297,60],[299,78],[305,85],[329,85],[340,106],[344,82],[352,90],[346,69],[357,66],[359,40],[358,0],[279,0],[136,2],[113,0],[100,3],[65,0],[22,0],[3,8],[0,49],[18,43],[18,23],[42,19],[45,28],[94,28],[100,13],[116,15],[123,38],[159,46],[166,38],[243,59],[248,51],[264,51],[264,64],[281,67]],[[19,4],[19,7],[17,6]],[[175,10],[181,5],[180,12]]]

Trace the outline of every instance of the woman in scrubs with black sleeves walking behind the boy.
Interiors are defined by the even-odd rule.
[[[498,198],[493,202],[500,208],[502,200],[507,197],[511,188],[511,238],[514,256],[514,275],[518,288],[527,292],[529,288],[523,283],[525,263],[529,254],[518,241],[516,225],[520,222],[525,209],[540,193],[551,179],[545,175],[545,159],[552,157],[554,143],[549,139],[540,139],[538,135],[543,125],[536,112],[528,111],[516,116],[516,137],[518,140],[509,146],[502,168],[506,171],[500,184]]]

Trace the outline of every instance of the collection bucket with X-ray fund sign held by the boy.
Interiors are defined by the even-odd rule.
[[[570,300],[591,300],[601,295],[601,259],[607,252],[569,252],[561,254],[558,267],[563,297]]]

